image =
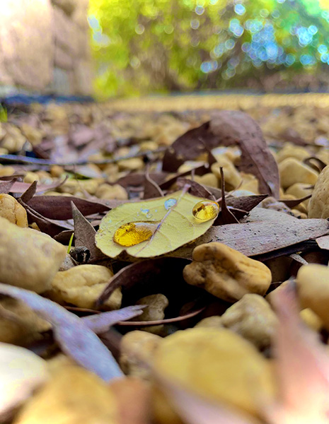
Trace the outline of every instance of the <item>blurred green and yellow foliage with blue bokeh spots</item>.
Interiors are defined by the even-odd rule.
[[[329,0],[91,0],[88,20],[103,97],[271,89],[329,64]]]

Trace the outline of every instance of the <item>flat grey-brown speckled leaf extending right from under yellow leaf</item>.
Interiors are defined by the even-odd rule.
[[[280,214],[284,216],[284,214]],[[221,225],[209,230],[190,245],[180,247],[168,255],[190,259],[192,250],[202,243],[221,242],[246,256],[265,254],[283,247],[313,240],[329,234],[325,219],[287,219]],[[294,252],[290,252],[294,253]]]

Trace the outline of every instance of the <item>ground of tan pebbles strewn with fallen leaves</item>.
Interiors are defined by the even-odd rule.
[[[1,422],[328,422],[328,110],[242,109],[0,124]]]

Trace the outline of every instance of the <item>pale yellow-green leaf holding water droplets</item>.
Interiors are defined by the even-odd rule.
[[[158,199],[117,206],[100,223],[96,246],[111,258],[117,257],[124,250],[132,257],[143,258],[172,252],[200,237],[214,223],[216,216],[202,221],[192,215],[193,206],[200,201],[204,199],[192,196],[183,189]],[[115,232],[122,225],[140,221],[146,222],[146,226],[151,228],[153,235],[148,240],[131,247],[113,241]]]

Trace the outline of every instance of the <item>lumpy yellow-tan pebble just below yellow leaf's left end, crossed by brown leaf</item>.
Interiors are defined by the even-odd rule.
[[[54,276],[50,290],[45,295],[55,302],[68,302],[77,307],[93,309],[113,273],[106,266],[78,265],[67,271],[59,271]],[[103,310],[120,308],[121,289],[117,288],[103,303]]]

